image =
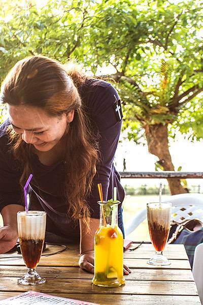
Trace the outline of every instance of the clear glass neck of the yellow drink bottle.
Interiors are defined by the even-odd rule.
[[[118,203],[99,203],[100,205],[100,226],[118,225]]]

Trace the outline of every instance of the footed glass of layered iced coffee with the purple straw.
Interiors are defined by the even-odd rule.
[[[36,271],[43,250],[46,228],[45,211],[20,211],[17,213],[18,235],[27,273],[18,284],[36,285],[45,283]]]

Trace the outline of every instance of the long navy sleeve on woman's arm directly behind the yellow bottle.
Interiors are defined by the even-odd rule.
[[[109,84],[106,87],[98,87],[92,106],[92,120],[98,131],[99,162],[96,167],[96,175],[93,178],[92,192],[87,203],[90,206],[90,216],[99,218],[100,200],[97,184],[101,183],[103,189],[103,199],[107,198],[112,175],[113,160],[118,145],[122,120],[119,120],[115,111],[115,96],[119,100],[115,88]],[[113,196],[113,194],[112,194]]]

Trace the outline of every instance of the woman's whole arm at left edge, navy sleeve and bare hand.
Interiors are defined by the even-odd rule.
[[[0,228],[0,252],[11,250],[18,239],[17,212],[24,210],[20,187],[20,166],[14,158],[7,135],[9,121],[0,125],[0,212],[4,227]]]

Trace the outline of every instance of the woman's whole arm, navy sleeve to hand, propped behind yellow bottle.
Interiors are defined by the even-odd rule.
[[[94,122],[96,131],[99,133],[98,147],[100,162],[97,164],[97,172],[93,179],[92,192],[86,200],[90,206],[91,212],[91,232],[85,234],[86,228],[83,228],[83,225],[80,223],[81,257],[79,260],[80,267],[89,272],[93,272],[94,270],[93,240],[94,233],[99,226],[99,205],[97,203],[99,194],[97,184],[101,183],[103,187],[104,200],[113,197],[113,187],[116,186],[116,177],[112,174],[112,168],[122,124],[121,117],[117,117],[115,111],[115,97],[119,100],[115,88],[102,81],[98,82],[93,88],[94,90],[90,90],[90,92],[93,93],[93,96],[88,96],[88,106],[91,111],[91,120]],[[120,185],[119,187],[120,189],[122,188]],[[122,201],[122,195],[124,195],[123,192],[122,194],[121,192],[117,192],[117,199]],[[127,275],[129,272],[129,268],[124,265],[124,274]]]

